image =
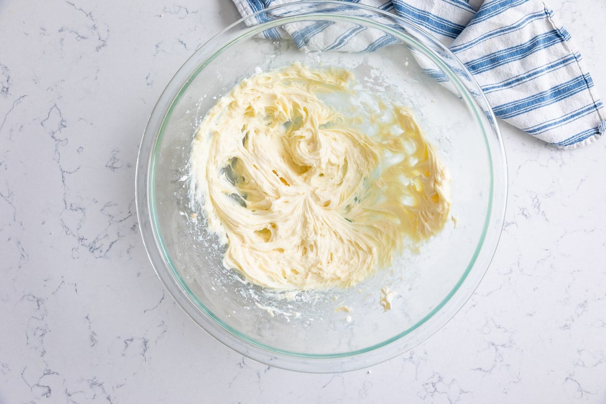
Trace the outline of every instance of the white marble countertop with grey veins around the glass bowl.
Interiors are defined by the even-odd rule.
[[[606,97],[606,3],[551,0]],[[604,403],[606,140],[503,124],[505,229],[478,290],[393,360],[299,374],[199,329],[148,262],[135,162],[227,0],[0,2],[0,403]]]

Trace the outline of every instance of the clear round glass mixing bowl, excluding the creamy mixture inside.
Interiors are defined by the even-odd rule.
[[[355,44],[321,50],[322,40],[305,41],[303,34],[322,27],[324,41],[344,32],[364,35]],[[388,45],[357,51],[377,44]],[[405,254],[393,268],[355,288],[294,298],[248,285],[222,267],[216,237],[204,220],[191,219],[196,212],[185,180],[191,140],[216,99],[256,69],[293,61],[351,68],[360,82],[410,106],[450,170],[454,218],[418,254]],[[389,13],[310,1],[230,25],[179,69],[153,109],[141,142],[137,213],[158,277],[213,337],[268,365],[347,371],[412,348],[464,305],[501,233],[506,173],[490,107],[450,51],[422,28]],[[395,293],[390,311],[379,304],[382,286]],[[351,313],[336,310],[344,305]]]

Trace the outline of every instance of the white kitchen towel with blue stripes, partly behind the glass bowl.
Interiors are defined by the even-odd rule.
[[[233,1],[247,17],[294,0]],[[581,54],[542,1],[344,1],[396,13],[430,31],[465,64],[494,114],[532,136],[578,147],[606,131],[606,113]],[[344,33],[330,24],[301,24],[288,32],[299,47],[371,51],[390,44],[385,37],[368,38],[373,34],[365,30]]]

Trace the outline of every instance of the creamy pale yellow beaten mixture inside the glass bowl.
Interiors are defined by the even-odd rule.
[[[278,290],[355,285],[450,210],[447,170],[411,112],[342,68],[242,80],[208,111],[190,164],[225,267]]]

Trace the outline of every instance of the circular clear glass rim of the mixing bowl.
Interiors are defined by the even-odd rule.
[[[330,12],[313,12],[309,13],[309,8],[311,7],[328,7],[328,6],[338,6],[338,8],[345,8],[348,10],[366,10],[368,12],[376,13],[379,16],[384,16],[390,18],[395,21],[398,25],[404,28],[405,32],[396,31],[395,28],[388,27],[384,24],[379,24],[376,22],[371,22],[368,19],[362,19],[360,17],[351,16],[351,15],[339,15],[339,10],[331,10]],[[250,19],[256,19],[257,16],[262,15],[264,13],[276,12],[281,9],[288,9],[294,7],[303,7],[307,10],[307,12],[295,12],[291,16],[287,17],[279,17],[275,18],[271,21],[262,22],[261,24],[247,26],[243,30],[239,30],[241,35],[237,35],[235,38],[232,38],[231,41],[228,41],[226,44],[222,46],[215,47],[208,51],[209,56],[204,59],[203,62],[198,64],[193,71],[187,70],[188,62],[195,58],[195,56],[205,50],[205,47],[210,47],[211,43],[218,38],[221,38],[222,35],[229,33],[233,28],[241,25],[245,21],[250,21]],[[300,11],[300,10],[299,10]],[[343,19],[346,21],[353,22],[362,22],[365,25],[376,25],[384,31],[389,31],[392,35],[396,35],[399,39],[403,39],[405,37],[405,41],[415,43],[416,47],[424,50],[425,56],[430,56],[433,62],[436,62],[451,80],[454,82],[457,89],[460,91],[461,95],[466,98],[465,102],[468,107],[471,107],[471,111],[476,114],[476,119],[478,120],[480,127],[484,133],[484,140],[486,142],[486,147],[488,151],[488,159],[489,159],[489,167],[491,170],[490,176],[490,195],[488,200],[488,208],[487,214],[484,222],[484,229],[482,231],[482,235],[478,242],[478,246],[474,251],[473,256],[471,257],[470,263],[467,266],[467,269],[462,273],[461,278],[458,280],[456,285],[454,285],[453,289],[450,293],[447,294],[442,301],[433,308],[427,315],[425,315],[421,320],[415,323],[415,325],[410,328],[402,331],[401,333],[396,334],[396,336],[390,337],[382,342],[375,343],[374,345],[368,346],[367,348],[357,349],[356,351],[349,351],[345,353],[334,353],[334,354],[305,354],[305,353],[295,353],[290,351],[285,351],[283,349],[272,348],[271,346],[264,345],[261,342],[258,342],[254,339],[251,339],[237,330],[231,328],[227,324],[223,323],[221,319],[216,317],[210,310],[207,310],[205,306],[196,299],[195,295],[191,292],[190,288],[188,288],[187,284],[181,279],[178,272],[175,269],[175,265],[171,262],[170,255],[168,251],[165,250],[164,242],[162,242],[162,234],[159,228],[156,225],[154,214],[156,211],[155,208],[155,200],[154,200],[154,174],[155,174],[155,165],[156,165],[156,150],[159,142],[162,139],[164,134],[163,130],[166,124],[167,119],[170,117],[170,114],[175,107],[176,102],[181,98],[182,93],[187,89],[191,80],[198,75],[199,71],[201,71],[205,65],[207,65],[216,55],[221,53],[222,50],[229,47],[230,45],[238,42],[242,38],[248,38],[249,36],[256,35],[261,31],[264,31],[268,27],[273,27],[275,25],[285,24],[291,21],[300,21],[301,18],[311,18],[311,19],[323,19],[323,18],[331,18],[331,19]],[[421,35],[421,37],[410,36],[410,31]],[[353,369],[363,368],[368,365],[373,365],[376,363],[383,362],[384,360],[391,359],[391,357],[395,357],[398,354],[404,353],[408,349],[413,348],[413,346],[418,345],[434,333],[436,333],[442,326],[444,326],[450,319],[464,306],[465,302],[471,297],[473,291],[479,285],[482,277],[488,270],[488,266],[490,265],[490,261],[494,256],[494,251],[496,251],[496,246],[501,235],[501,230],[504,224],[504,215],[505,215],[505,206],[507,202],[507,165],[506,165],[506,157],[504,145],[502,143],[501,134],[496,124],[496,119],[494,118],[494,114],[488,104],[487,99],[481,91],[478,91],[478,94],[473,94],[476,96],[476,99],[472,96],[471,91],[460,81],[458,75],[452,71],[451,67],[444,64],[441,59],[433,54],[431,48],[427,47],[426,44],[422,43],[427,41],[430,45],[438,47],[441,51],[445,51],[448,56],[450,56],[453,61],[456,61],[459,68],[462,68],[462,71],[467,73],[467,80],[470,81],[473,87],[476,87],[479,90],[479,85],[474,80],[473,76],[465,69],[464,65],[454,56],[448,48],[444,47],[440,42],[434,39],[424,28],[415,25],[413,22],[407,21],[400,16],[393,15],[391,13],[384,12],[378,8],[368,7],[360,4],[352,4],[340,1],[304,1],[304,2],[296,2],[278,5],[275,7],[266,8],[264,10],[260,10],[259,12],[254,13],[253,15],[247,16],[245,18],[241,18],[233,24],[228,25],[228,27],[224,28],[224,30],[220,31],[215,36],[211,37],[205,44],[198,47],[193,55],[187,59],[187,61],[179,68],[179,70],[175,73],[173,78],[168,82],[167,87],[162,91],[161,96],[156,102],[152,113],[150,114],[150,118],[148,119],[147,125],[145,127],[144,134],[141,140],[141,146],[139,148],[138,161],[136,165],[136,208],[137,208],[137,217],[139,220],[139,227],[141,228],[141,235],[143,239],[143,243],[145,246],[145,250],[147,251],[148,258],[158,275],[161,282],[164,284],[165,288],[167,288],[168,292],[171,294],[173,299],[181,306],[182,310],[194,320],[202,329],[207,331],[211,336],[215,337],[215,339],[219,340],[219,342],[227,345],[231,349],[234,349],[238,353],[241,353],[251,359],[258,360],[259,362],[278,366],[281,368],[299,370],[299,371],[308,371],[308,372],[331,372],[331,371],[347,371]],[[184,80],[184,78],[187,79]],[[481,113],[476,108],[476,102],[482,101],[484,105],[479,105],[479,110],[482,110],[482,114],[486,114],[485,116],[487,121],[487,127],[484,125],[484,120],[481,117]],[[167,105],[167,107],[165,107]],[[489,129],[490,131],[487,131]],[[491,132],[491,133],[490,133]],[[494,135],[490,137],[490,135]],[[490,141],[490,139],[493,139]],[[494,168],[498,168],[493,161],[493,153],[496,160],[502,161],[502,170],[495,173]],[[498,164],[498,162],[497,162]],[[497,174],[500,174],[501,178],[496,177]],[[501,188],[495,188],[495,179],[496,182],[501,183]],[[494,203],[493,203],[494,202]],[[491,228],[492,225],[492,228]],[[488,234],[488,231],[491,231],[491,234]],[[487,236],[491,236],[490,247],[488,250],[484,247],[485,242],[487,242]],[[476,276],[471,279],[469,277],[471,270],[476,268],[475,263],[478,262],[479,255],[484,253],[484,260],[486,265],[483,265],[483,270],[476,270]],[[473,282],[470,284],[471,280]],[[465,294],[461,296],[461,286],[467,283],[468,288],[465,290]],[[459,299],[453,300],[453,297],[458,294]],[[447,316],[439,323],[433,324],[435,322],[436,317],[435,314],[439,313],[443,310],[449,303],[452,306],[453,303],[457,304],[454,307],[448,307],[450,311],[448,311]],[[200,316],[202,312],[202,316]],[[431,320],[433,319],[433,322]],[[394,346],[395,342],[402,341],[404,336],[407,336],[413,331],[420,329],[421,327],[425,327],[427,331],[412,342],[408,344],[403,344],[402,346]],[[390,349],[387,349],[390,348]],[[378,354],[378,351],[382,351],[381,354]]]

